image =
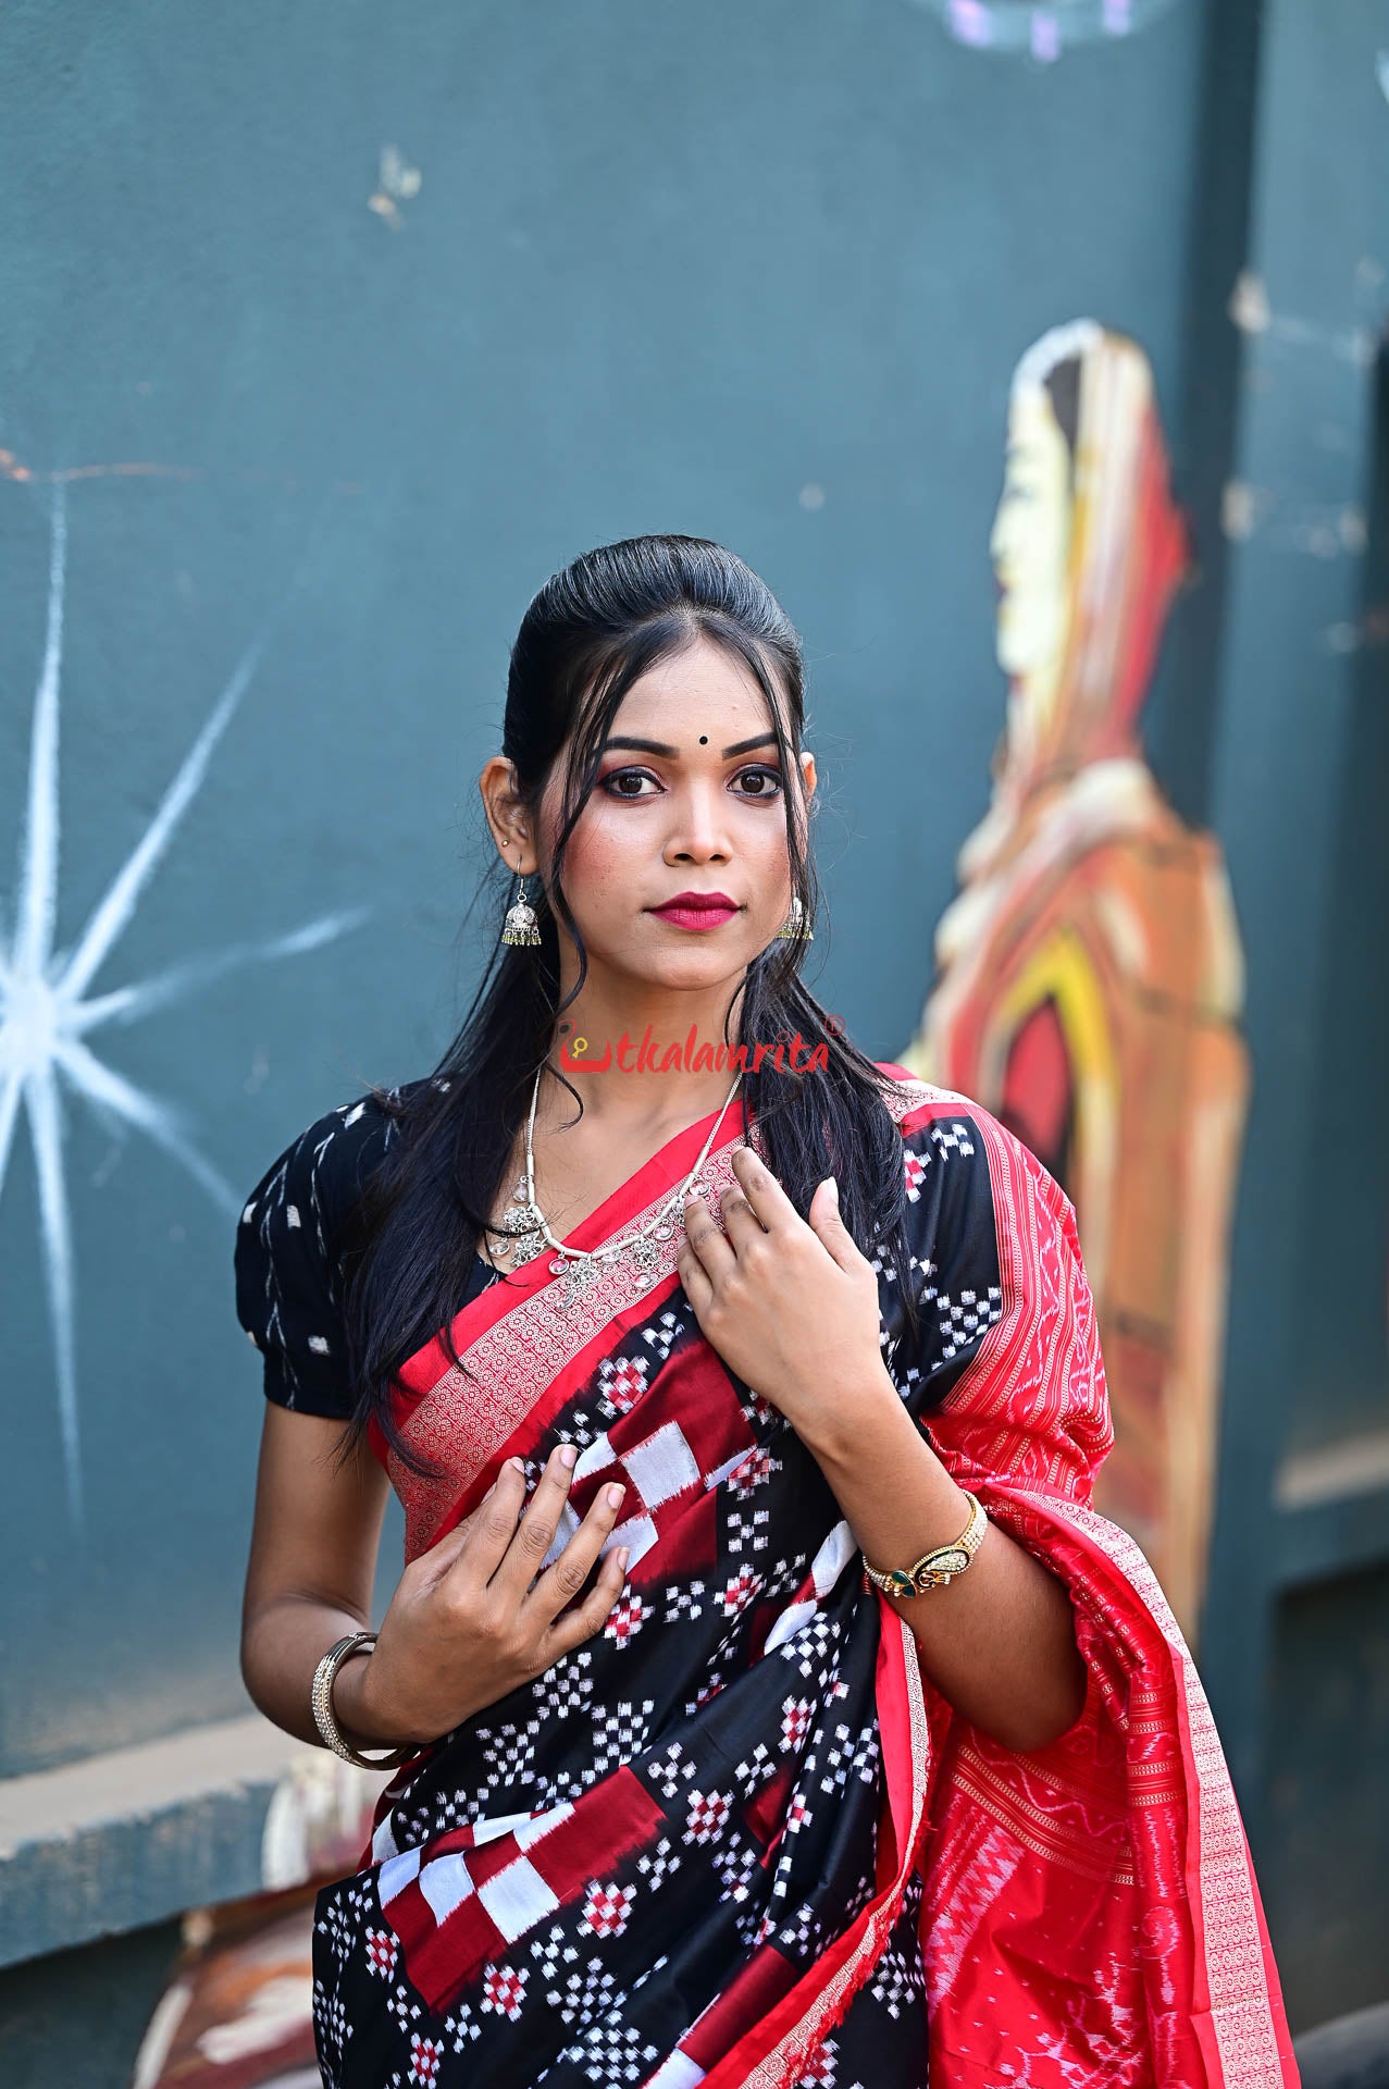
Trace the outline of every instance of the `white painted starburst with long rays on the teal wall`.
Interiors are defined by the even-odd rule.
[[[213,750],[244,696],[265,633],[255,639],[226,683],[213,712],[188,750],[140,842],[96,902],[71,950],[54,950],[58,905],[58,683],[63,673],[63,600],[67,572],[67,510],[63,487],[52,510],[48,562],[48,631],[44,662],[33,696],[29,744],[29,798],[19,852],[19,888],[13,932],[0,909],[0,1195],[8,1170],[21,1107],[29,1120],[38,1176],[40,1226],[48,1283],[48,1312],[58,1379],[58,1421],[67,1500],[81,1525],[81,1454],[77,1437],[75,1287],[73,1243],[63,1174],[63,1076],[92,1109],[125,1136],[125,1126],[144,1132],[178,1159],[188,1174],[226,1210],[238,1212],[240,1197],[188,1141],[178,1109],[134,1086],[104,1065],[86,1044],[102,1024],[130,1024],[167,1007],[190,988],[240,965],[315,950],[334,936],[357,928],[368,909],[324,915],[288,936],[259,944],[228,944],[132,986],[88,999],[88,986],[127,928],[178,823],[192,804]]]

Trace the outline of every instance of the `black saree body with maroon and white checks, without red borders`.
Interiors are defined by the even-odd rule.
[[[988,1176],[959,1113],[934,1132],[904,1136],[911,1245],[952,1299],[973,1291],[984,1329]],[[971,1329],[948,1318],[942,1339],[944,1312],[925,1314],[900,1343],[890,1272],[879,1299],[890,1370],[923,1414]],[[610,1542],[631,1546],[627,1590],[583,1648],[397,1774],[368,1863],[320,1897],[330,2089],[689,2089],[884,1891],[879,1604],[854,1535],[679,1289],[612,1335],[497,1456],[535,1473],[560,1439],[583,1446],[549,1558],[625,1483]],[[917,1884],[802,2081],[925,2081]]]

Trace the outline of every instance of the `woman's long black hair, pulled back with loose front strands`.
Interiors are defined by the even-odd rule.
[[[556,1040],[556,1024],[587,976],[587,953],[564,892],[564,854],[593,790],[612,719],[656,662],[685,652],[700,637],[723,646],[756,679],[777,735],[785,779],[785,836],[792,890],[806,919],[815,915],[815,869],[800,848],[796,800],[804,729],[804,664],[796,629],[764,581],[706,537],[625,537],[585,551],[531,602],[516,643],[505,691],[501,752],[514,765],[518,794],[535,817],[556,760],[564,754],[564,808],[535,900],[539,946],[499,940],[510,888],[495,859],[491,961],[464,1024],[432,1078],[409,1095],[374,1090],[395,1120],[384,1161],[368,1178],[345,1243],[345,1318],[355,1400],[345,1441],[359,1441],[368,1421],[405,1464],[420,1458],[401,1443],[391,1414],[395,1372],[443,1331],[455,1364],[451,1320],[472,1272],[472,1258],[497,1205],[501,1176],[531,1107],[531,1086]],[[777,710],[781,689],[790,737]],[[568,752],[566,752],[568,750]],[[485,892],[487,888],[482,888]],[[579,946],[579,980],[560,1003],[560,940],[556,913]],[[806,1051],[827,1047],[827,1067],[794,1072],[771,1053],[748,1063],[739,1097],[748,1132],[752,1107],[769,1166],[804,1216],[815,1184],[840,1180],[844,1224],[869,1255],[881,1258],[900,1285],[909,1324],[917,1324],[904,1237],[900,1134],[879,1074],[815,1001],[800,980],[804,942],[773,938],[748,965],[739,1038],[767,1042],[796,1032]],[[748,1059],[752,1061],[752,1051]],[[737,1061],[735,1061],[737,1065]],[[558,1070],[556,1070],[558,1072]],[[558,1072],[558,1078],[564,1076]],[[583,1101],[572,1082],[566,1082]],[[505,1278],[503,1278],[505,1281]],[[466,1366],[464,1366],[466,1368]]]

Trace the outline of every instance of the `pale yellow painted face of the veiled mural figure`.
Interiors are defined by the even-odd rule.
[[[1042,384],[1009,403],[1003,495],[988,541],[998,577],[998,666],[1015,681],[1061,664],[1069,625],[1072,457]]]

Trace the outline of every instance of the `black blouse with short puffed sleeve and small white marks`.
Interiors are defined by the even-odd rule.
[[[407,1097],[422,1080],[391,1095]],[[251,1191],[236,1226],[236,1318],[265,1360],[265,1398],[347,1421],[343,1247],[353,1203],[401,1128],[374,1095],[317,1118]],[[457,1310],[499,1270],[474,1255]]]

